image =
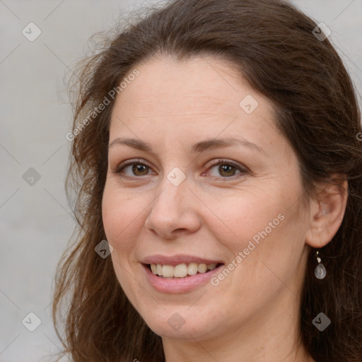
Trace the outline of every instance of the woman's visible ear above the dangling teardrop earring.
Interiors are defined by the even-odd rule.
[[[319,249],[327,245],[334,235],[346,211],[348,182],[342,175],[334,174],[330,180],[317,182],[316,196],[310,202],[310,226],[305,243]]]

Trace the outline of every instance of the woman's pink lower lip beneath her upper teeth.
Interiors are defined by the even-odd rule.
[[[223,264],[215,268],[214,270],[210,270],[207,273],[197,273],[194,275],[185,276],[185,278],[162,278],[153,274],[153,272],[148,269],[146,265],[142,265],[146,271],[146,277],[148,279],[149,284],[156,289],[156,291],[160,291],[161,293],[185,293],[187,291],[192,291],[192,289],[207,284],[207,282],[212,278],[214,274],[217,274]]]

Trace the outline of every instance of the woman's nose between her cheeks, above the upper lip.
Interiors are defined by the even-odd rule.
[[[200,201],[189,189],[187,178],[178,186],[166,177],[151,204],[145,227],[161,238],[174,239],[180,233],[195,233],[201,227]]]

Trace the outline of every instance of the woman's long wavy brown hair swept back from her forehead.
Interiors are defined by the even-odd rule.
[[[75,362],[165,359],[162,340],[129,303],[110,257],[95,252],[105,239],[101,202],[114,104],[110,91],[120,94],[117,87],[127,74],[155,54],[175,59],[211,54],[232,62],[274,103],[276,127],[296,152],[307,197],[316,180],[346,175],[344,219],[320,250],[328,271],[323,280],[314,276],[310,250],[299,328],[315,361],[361,362],[362,131],[354,86],[336,50],[328,38],[315,36],[317,23],[279,0],[175,0],[134,19],[76,71],[67,191],[76,200],[78,229],[59,262],[53,303],[64,353]],[[110,104],[98,112],[105,97]],[[324,332],[312,323],[321,311],[332,321]]]

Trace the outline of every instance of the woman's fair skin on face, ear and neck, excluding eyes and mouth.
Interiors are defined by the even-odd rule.
[[[153,153],[110,146],[103,194],[112,262],[130,302],[162,337],[167,362],[313,361],[298,337],[308,245],[322,247],[332,239],[346,197],[300,204],[298,160],[276,130],[271,102],[230,64],[211,56],[182,62],[160,56],[136,68],[139,76],[112,110],[110,143],[141,139]],[[259,103],[250,114],[239,105],[246,95]],[[198,141],[229,136],[242,136],[262,151],[236,144],[191,153]],[[135,174],[130,165],[115,173],[134,158],[149,168]],[[225,173],[210,165],[221,158],[247,171]],[[167,178],[175,167],[186,177],[178,186]],[[148,284],[144,257],[187,254],[227,265],[279,214],[284,220],[217,286],[170,294]],[[185,320],[178,330],[168,324],[174,313]]]

